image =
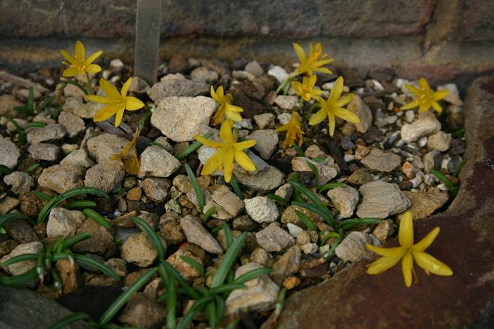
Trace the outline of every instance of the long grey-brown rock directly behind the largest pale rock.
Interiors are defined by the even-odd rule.
[[[204,81],[166,79],[165,81],[154,83],[147,93],[154,103],[158,104],[166,97],[193,97],[208,93],[208,91],[208,84]]]

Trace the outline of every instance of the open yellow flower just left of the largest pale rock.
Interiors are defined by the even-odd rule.
[[[124,83],[121,92],[116,90],[115,86],[104,79],[99,79],[99,86],[103,88],[106,93],[106,97],[88,95],[89,101],[94,101],[96,103],[106,104],[104,108],[101,108],[95,115],[93,120],[96,122],[105,121],[112,116],[115,117],[115,126],[120,126],[122,117],[124,116],[124,111],[136,111],[144,106],[144,103],[139,101],[135,97],[127,96],[128,88],[131,86],[132,78]]]

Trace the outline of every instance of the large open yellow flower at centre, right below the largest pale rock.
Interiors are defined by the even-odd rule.
[[[256,165],[245,152],[246,148],[256,145],[256,141],[241,141],[237,143],[237,136],[231,132],[231,124],[228,121],[223,121],[220,128],[220,138],[223,142],[210,141],[202,136],[194,136],[198,141],[211,148],[218,148],[211,158],[204,163],[201,175],[210,175],[216,169],[223,171],[225,181],[228,183],[231,180],[233,173],[233,160],[235,160],[246,171],[255,171]]]

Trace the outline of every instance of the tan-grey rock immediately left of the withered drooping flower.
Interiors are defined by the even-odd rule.
[[[114,135],[113,133],[101,133],[101,135],[89,138],[88,153],[97,163],[111,160],[111,156],[119,154],[128,141],[125,138]]]

